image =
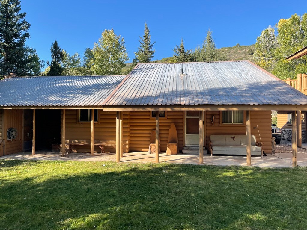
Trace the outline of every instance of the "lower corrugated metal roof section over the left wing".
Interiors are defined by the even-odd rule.
[[[0,106],[100,106],[125,76],[18,77],[0,81]]]

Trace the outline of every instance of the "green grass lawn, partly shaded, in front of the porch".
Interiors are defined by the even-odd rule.
[[[0,160],[0,229],[306,229],[306,178],[305,167]]]

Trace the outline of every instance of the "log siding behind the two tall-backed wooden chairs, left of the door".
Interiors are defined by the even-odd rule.
[[[167,118],[160,118],[160,147],[165,152],[169,128],[175,124],[178,134],[179,151],[183,148],[184,111],[167,111]],[[148,151],[150,134],[155,130],[155,118],[150,111],[130,111],[130,151]]]

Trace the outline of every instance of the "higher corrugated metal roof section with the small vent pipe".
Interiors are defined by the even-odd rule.
[[[140,63],[104,104],[306,105],[307,97],[249,61]]]

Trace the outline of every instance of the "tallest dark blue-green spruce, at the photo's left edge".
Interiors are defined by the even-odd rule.
[[[0,0],[0,71],[1,74],[21,71],[28,64],[24,60],[25,40],[30,24],[25,21],[26,13],[20,13],[19,0]]]

